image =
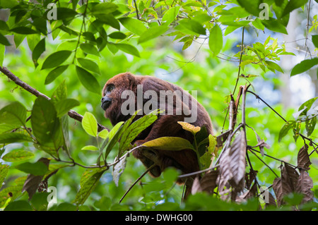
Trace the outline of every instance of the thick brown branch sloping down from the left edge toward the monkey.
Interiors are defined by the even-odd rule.
[[[17,85],[22,87],[24,90],[27,90],[28,92],[30,92],[32,95],[35,95],[36,97],[42,96],[42,97],[45,97],[46,99],[50,99],[46,95],[37,91],[35,88],[31,87],[27,83],[20,80],[20,78],[18,78],[16,75],[11,73],[11,71],[9,71],[6,67],[0,66],[0,71],[2,73],[4,73],[4,75],[6,75],[10,80],[13,80],[14,83],[16,83]],[[81,122],[83,119],[83,116],[81,114],[78,114],[76,111],[73,111],[73,110],[70,110],[67,114],[69,115],[69,117],[71,117],[79,122]],[[104,129],[109,130],[109,129],[105,128],[105,126],[102,126],[101,124],[98,123],[98,132],[100,132],[101,130],[104,130]]]

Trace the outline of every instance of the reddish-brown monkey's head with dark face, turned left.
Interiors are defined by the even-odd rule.
[[[126,121],[131,115],[124,116],[121,113],[122,92],[124,90],[136,90],[136,81],[131,73],[119,73],[115,75],[102,89],[101,107],[105,110],[105,117],[110,118],[114,126],[119,121]]]

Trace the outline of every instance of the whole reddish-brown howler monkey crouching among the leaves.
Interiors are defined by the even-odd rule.
[[[132,104],[131,99],[129,104],[129,95],[124,93],[127,90],[129,91],[128,94],[134,94],[132,96]],[[167,93],[172,93],[170,100],[168,100],[169,97],[167,95],[164,95]],[[176,93],[181,95],[176,95]],[[142,95],[141,98],[139,94]],[[140,99],[141,101],[139,101]],[[187,101],[184,101],[184,99]],[[189,95],[188,92],[182,90],[181,87],[168,83],[165,80],[148,75],[120,73],[108,80],[102,90],[102,109],[105,110],[105,117],[110,118],[113,126],[119,121],[126,121],[135,110],[141,109],[142,111],[144,109],[143,114],[137,114],[134,120],[140,118],[146,114],[145,107],[148,107],[149,111],[153,109],[165,109],[165,112],[159,114],[158,119],[146,130],[143,130],[131,144],[139,146],[149,140],[167,136],[185,138],[193,142],[194,137],[192,133],[184,130],[177,123],[177,121],[187,122],[186,119],[190,116],[195,119],[191,121],[192,125],[199,127],[206,126],[208,133],[213,133],[210,116],[204,107],[194,97]],[[129,114],[127,114],[127,110],[130,110]],[[181,170],[182,174],[199,171],[198,160],[193,150],[151,150],[148,151],[146,157],[143,150],[138,149],[133,152],[133,155],[137,159],[140,159],[147,168],[154,163],[154,160],[151,159],[156,159],[157,166],[154,166],[150,171],[150,174],[155,177],[160,176],[161,172],[169,166],[174,166]],[[179,180],[179,183],[183,182]]]

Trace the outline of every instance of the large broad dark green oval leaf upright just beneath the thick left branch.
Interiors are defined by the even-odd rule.
[[[31,126],[35,138],[41,144],[52,142],[57,128],[57,111],[51,101],[41,96],[35,99],[31,114]]]

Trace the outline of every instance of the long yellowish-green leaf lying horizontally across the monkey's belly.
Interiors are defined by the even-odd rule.
[[[194,150],[194,147],[189,142],[189,140],[179,137],[163,137],[150,140],[146,143],[143,143],[143,146],[152,147],[156,150],[170,150],[170,151],[179,151],[179,150]]]

